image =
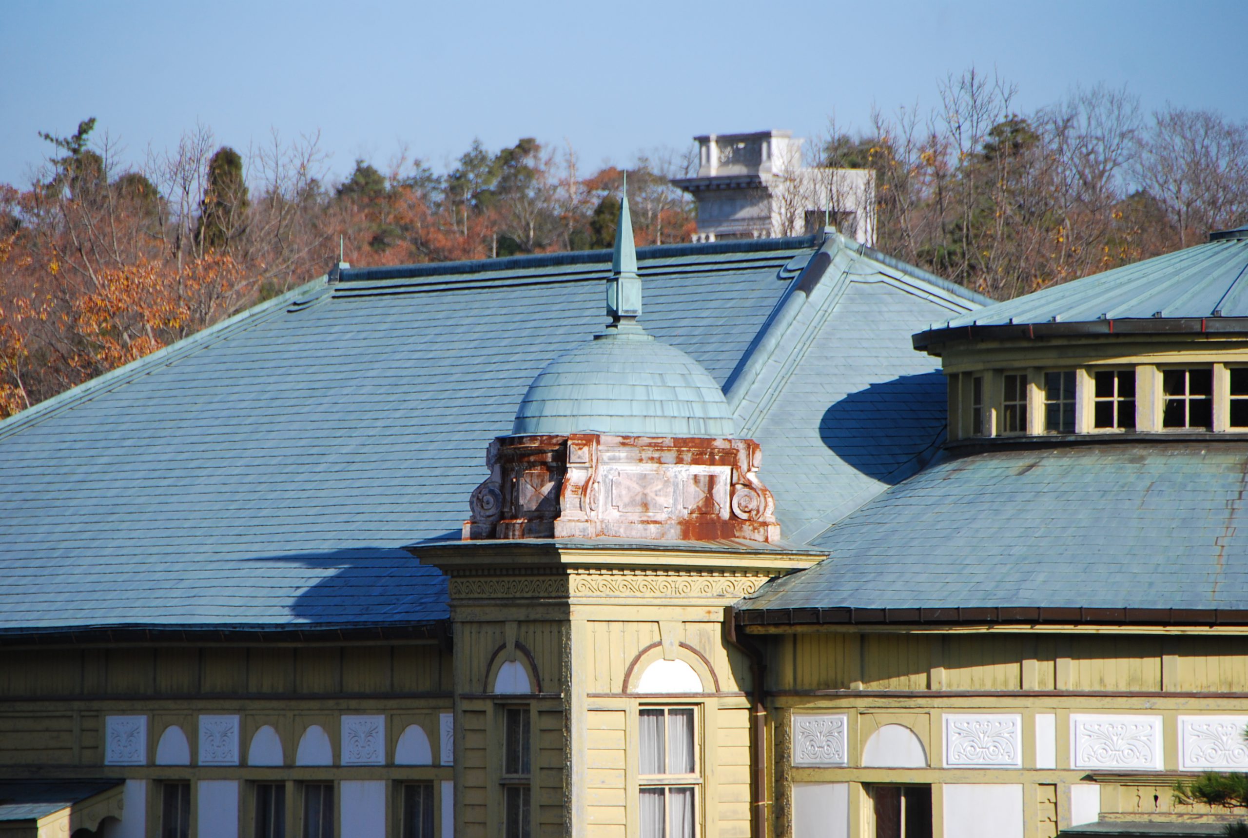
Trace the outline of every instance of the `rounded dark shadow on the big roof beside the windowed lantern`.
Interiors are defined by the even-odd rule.
[[[945,438],[945,376],[900,376],[846,395],[819,422],[831,451],[867,477],[899,483]],[[904,468],[916,462],[916,467]]]

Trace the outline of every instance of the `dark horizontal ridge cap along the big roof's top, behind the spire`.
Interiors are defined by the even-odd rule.
[[[716,256],[720,254],[768,252],[775,250],[800,250],[819,245],[819,236],[789,236],[784,239],[746,239],[740,241],[713,241],[705,244],[681,242],[678,245],[650,245],[638,247],[638,260],[671,259],[681,256]],[[577,250],[559,254],[525,254],[498,259],[459,260],[454,262],[419,262],[414,265],[388,265],[384,267],[349,267],[339,275],[339,282],[367,280],[407,280],[422,276],[449,276],[453,274],[480,274],[528,267],[560,267],[570,265],[610,264],[610,250]]]

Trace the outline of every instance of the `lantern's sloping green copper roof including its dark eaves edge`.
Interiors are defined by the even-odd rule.
[[[1212,239],[952,317],[931,326],[915,342],[927,346],[1015,333],[1186,331],[1173,321],[1188,321],[1196,331],[1248,331],[1248,231],[1226,231]]]

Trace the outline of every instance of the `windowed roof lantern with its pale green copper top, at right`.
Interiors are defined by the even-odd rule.
[[[942,358],[950,440],[1248,436],[1248,227],[915,335]]]

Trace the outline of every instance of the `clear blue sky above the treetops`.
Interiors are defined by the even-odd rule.
[[[1127,85],[1248,119],[1248,2],[66,2],[0,20],[0,182],[29,182],[39,131],[139,160],[197,122],[245,149],[319,130],[342,176],[402,144],[441,170],[480,137],[568,141],[587,174],[703,132],[865,127],[931,107],[975,65],[1023,110]]]

